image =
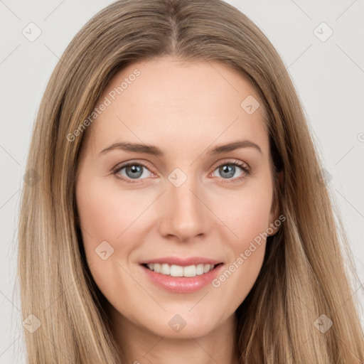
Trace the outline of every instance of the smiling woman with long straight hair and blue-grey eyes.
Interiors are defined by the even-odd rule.
[[[234,7],[100,11],[53,72],[28,168],[28,363],[363,362],[299,99]]]

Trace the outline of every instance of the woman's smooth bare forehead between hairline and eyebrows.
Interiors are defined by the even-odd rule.
[[[112,77],[102,104],[87,131],[95,152],[117,141],[163,145],[175,154],[236,139],[268,147],[254,87],[221,63],[173,57],[134,63]]]

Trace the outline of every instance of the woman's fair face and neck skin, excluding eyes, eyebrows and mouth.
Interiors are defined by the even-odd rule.
[[[259,97],[235,70],[168,56],[114,75],[97,105],[135,69],[139,77],[88,127],[82,146],[76,200],[87,263],[128,363],[235,363],[234,312],[257,279],[265,240],[220,287],[188,294],[156,287],[139,262],[200,256],[218,259],[225,271],[277,220],[262,103],[253,114],[240,107],[248,95]],[[214,146],[243,139],[261,152],[245,147],[208,155]],[[153,144],[165,156],[100,154],[118,141]],[[229,159],[252,172],[236,166],[227,177],[218,167],[231,166]],[[141,167],[139,179],[127,168],[119,171],[137,182],[127,183],[112,173],[125,161],[150,168]],[[187,177],[179,187],[168,180],[175,168]],[[105,260],[95,252],[103,241],[114,249]],[[168,325],[176,314],[186,321],[179,332]]]

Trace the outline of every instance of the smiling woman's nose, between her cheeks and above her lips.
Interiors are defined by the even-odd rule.
[[[179,187],[168,182],[159,199],[161,235],[183,242],[205,235],[214,215],[204,197],[203,186],[193,183],[193,178],[187,178]]]

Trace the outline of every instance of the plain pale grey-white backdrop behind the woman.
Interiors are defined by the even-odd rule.
[[[0,363],[25,363],[16,222],[31,129],[60,55],[86,21],[111,2],[0,0]],[[228,2],[262,29],[287,66],[363,284],[363,0]],[[360,284],[355,296],[363,305]],[[363,311],[360,314],[363,324]]]

